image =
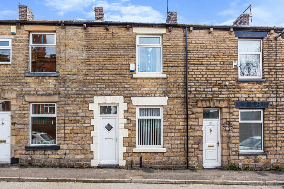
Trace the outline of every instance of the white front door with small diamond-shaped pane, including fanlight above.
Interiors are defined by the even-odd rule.
[[[105,106],[104,106],[105,107]],[[116,109],[117,106],[107,106]],[[102,106],[100,106],[102,109]],[[110,108],[109,108],[110,109]],[[118,164],[118,116],[115,110],[99,116],[99,163]],[[110,113],[110,114],[108,114]]]

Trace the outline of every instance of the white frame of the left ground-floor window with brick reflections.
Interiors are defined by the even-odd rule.
[[[32,114],[32,105],[34,104],[55,104],[55,114]],[[56,139],[55,144],[32,144],[32,118],[33,117],[55,117],[56,118],[56,125],[57,125],[57,104],[53,102],[36,102],[30,103],[30,145],[31,146],[55,146],[57,145],[57,126],[56,126]]]

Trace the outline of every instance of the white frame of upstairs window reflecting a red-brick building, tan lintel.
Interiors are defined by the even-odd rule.
[[[32,35],[54,35],[54,43],[48,43],[48,44],[41,44],[41,43],[32,43]],[[55,49],[55,72],[32,72],[32,47],[55,47],[56,48],[56,32],[36,32],[30,33],[30,72],[31,73],[56,73],[57,71],[57,49]]]

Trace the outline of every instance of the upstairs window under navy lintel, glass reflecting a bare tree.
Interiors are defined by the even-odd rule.
[[[262,78],[261,39],[239,39],[239,78]]]

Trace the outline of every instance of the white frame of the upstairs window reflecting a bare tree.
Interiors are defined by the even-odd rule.
[[[259,54],[259,67],[260,67],[260,76],[257,77],[247,77],[247,76],[240,76],[240,59],[239,59],[239,78],[240,79],[262,79],[262,39],[238,39],[239,41],[259,41],[260,42],[260,51],[259,52],[246,52],[246,51],[238,51],[238,59],[240,54]]]

